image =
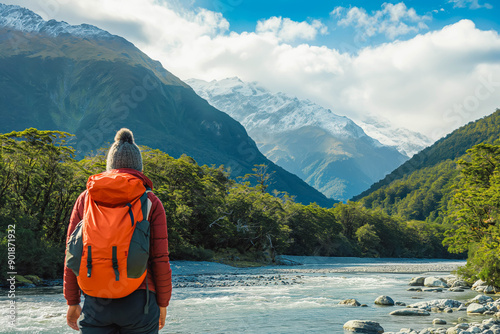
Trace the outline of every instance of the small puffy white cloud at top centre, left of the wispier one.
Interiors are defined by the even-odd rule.
[[[297,39],[314,40],[318,33],[325,35],[327,27],[319,20],[311,23],[295,22],[289,18],[273,16],[257,22],[255,31],[258,34],[271,34],[283,42],[293,42]]]

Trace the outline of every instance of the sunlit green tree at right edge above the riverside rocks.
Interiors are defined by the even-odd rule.
[[[454,228],[443,243],[451,252],[469,251],[462,273],[500,285],[500,146],[479,144],[458,162],[461,180],[453,197]]]

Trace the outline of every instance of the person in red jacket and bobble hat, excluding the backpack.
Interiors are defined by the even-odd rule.
[[[129,129],[116,133],[109,149],[106,173],[128,173],[141,180],[144,186],[153,189],[153,184],[143,173],[142,155]],[[68,238],[84,216],[87,191],[80,194],[71,214]],[[66,320],[74,330],[82,333],[158,333],[165,325],[167,306],[172,294],[167,222],[161,201],[148,192],[151,201],[150,254],[148,273],[139,288],[132,294],[117,299],[97,298],[85,295],[80,306],[81,290],[75,273],[64,267],[63,293],[68,304]],[[146,282],[147,280],[147,282]],[[146,294],[149,293],[149,311],[144,312]]]

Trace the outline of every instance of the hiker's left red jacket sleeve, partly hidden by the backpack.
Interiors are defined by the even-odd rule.
[[[86,191],[81,193],[73,206],[73,211],[71,212],[71,218],[69,220],[66,243],[68,242],[71,233],[75,230],[76,225],[78,225],[78,223],[83,219],[86,193]],[[64,261],[63,294],[68,305],[77,305],[80,303],[80,287],[78,286],[75,273],[66,267],[66,261]]]

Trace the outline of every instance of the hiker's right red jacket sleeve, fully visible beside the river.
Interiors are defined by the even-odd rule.
[[[156,289],[156,300],[159,306],[166,307],[172,295],[172,270],[168,253],[167,218],[161,201],[153,193],[151,200],[151,269]]]

